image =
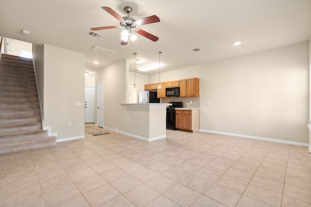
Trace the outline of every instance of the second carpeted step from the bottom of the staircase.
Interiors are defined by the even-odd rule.
[[[41,139],[48,137],[48,130],[30,130],[24,132],[12,132],[7,134],[0,134],[0,143],[12,142],[12,140],[26,141]]]

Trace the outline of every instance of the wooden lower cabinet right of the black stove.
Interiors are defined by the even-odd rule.
[[[183,131],[198,131],[200,127],[200,111],[199,110],[177,110],[176,128]]]

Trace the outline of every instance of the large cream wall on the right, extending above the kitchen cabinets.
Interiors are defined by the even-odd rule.
[[[181,68],[161,73],[161,81],[200,79],[200,129],[309,143],[309,48],[304,42]]]

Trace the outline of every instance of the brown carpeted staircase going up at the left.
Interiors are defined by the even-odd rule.
[[[42,130],[33,61],[1,54],[0,155],[54,146],[56,139]]]

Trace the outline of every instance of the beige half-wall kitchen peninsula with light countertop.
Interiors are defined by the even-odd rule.
[[[166,138],[166,107],[170,103],[121,104],[124,134],[153,141]]]

